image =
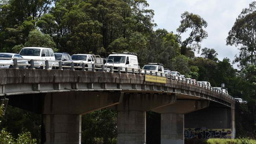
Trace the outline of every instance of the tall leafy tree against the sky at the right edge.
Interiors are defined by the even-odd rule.
[[[239,47],[239,56],[236,56],[234,62],[239,62],[239,67],[242,69],[247,65],[256,65],[255,9],[256,2],[252,2],[249,8],[243,9],[226,38],[227,45]]]

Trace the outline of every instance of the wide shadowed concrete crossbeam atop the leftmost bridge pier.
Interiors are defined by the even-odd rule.
[[[39,114],[84,114],[122,102],[120,92],[54,92],[8,96],[9,104]]]

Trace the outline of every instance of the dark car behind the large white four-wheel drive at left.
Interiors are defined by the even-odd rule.
[[[68,53],[54,53],[54,57],[56,61],[62,61],[62,66],[71,66],[71,63],[73,60],[71,56]],[[67,63],[65,63],[65,61]],[[62,67],[63,69],[70,69],[70,67]]]

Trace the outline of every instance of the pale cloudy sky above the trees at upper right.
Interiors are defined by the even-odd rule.
[[[147,0],[148,9],[154,10],[154,22],[158,28],[176,32],[180,25],[180,15],[184,11],[200,15],[208,23],[205,29],[208,37],[201,42],[202,48],[214,48],[218,59],[228,57],[231,61],[239,50],[226,45],[228,31],[231,30],[242,9],[249,7],[252,0]],[[184,39],[186,34],[182,35]],[[195,52],[196,56],[200,56]],[[237,68],[237,64],[233,65]]]

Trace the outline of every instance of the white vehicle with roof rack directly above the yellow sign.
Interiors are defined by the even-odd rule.
[[[161,76],[161,73],[165,76],[163,64],[161,63],[148,63],[148,65],[144,65],[142,69],[142,73],[145,73],[144,70],[147,70],[147,74],[150,74],[150,71],[152,71],[153,74],[158,72],[158,76]]]

